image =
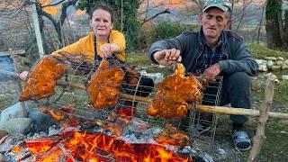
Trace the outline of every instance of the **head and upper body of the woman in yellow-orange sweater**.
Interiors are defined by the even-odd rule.
[[[91,10],[90,18],[93,32],[51,55],[58,55],[58,51],[64,50],[71,54],[84,54],[90,61],[105,57],[117,58],[124,62],[126,41],[120,31],[112,30],[114,22],[112,9],[108,5],[97,4]]]

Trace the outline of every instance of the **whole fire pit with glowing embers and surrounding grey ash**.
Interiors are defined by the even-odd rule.
[[[125,125],[121,137],[114,137],[111,131],[91,122],[82,125],[80,130],[58,128],[55,135],[41,134],[40,138],[36,133],[32,137],[14,134],[0,145],[0,152],[4,152],[7,161],[213,161],[191,146],[158,144],[153,136],[161,128],[146,125],[137,118]]]

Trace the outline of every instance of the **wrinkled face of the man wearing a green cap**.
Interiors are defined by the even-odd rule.
[[[221,31],[230,25],[230,20],[224,11],[210,8],[200,15],[200,23],[206,39],[218,40]]]

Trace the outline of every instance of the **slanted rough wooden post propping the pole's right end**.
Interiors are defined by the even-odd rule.
[[[253,138],[253,147],[251,148],[247,160],[248,162],[256,161],[262,148],[263,140],[265,138],[265,126],[268,120],[268,112],[272,107],[274,88],[277,81],[276,76],[272,73],[269,74],[266,80],[265,100],[260,106],[260,117],[257,123],[257,131]]]

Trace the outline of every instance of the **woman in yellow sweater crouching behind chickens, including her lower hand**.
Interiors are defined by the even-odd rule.
[[[94,31],[84,38],[77,40],[75,43],[52,52],[51,55],[61,57],[58,52],[67,51],[72,55],[82,54],[87,58],[88,62],[95,62],[97,64],[103,57],[107,58],[108,61],[110,59],[117,59],[119,62],[124,63],[126,60],[126,41],[120,31],[112,30],[114,22],[112,13],[112,9],[108,5],[95,5],[90,14],[90,25]],[[25,80],[27,76],[27,71],[20,75],[23,80]],[[140,96],[147,96],[152,91],[152,89],[148,87],[154,86],[153,80],[145,76],[141,77],[139,84],[145,85],[139,87],[138,91],[141,93],[138,92],[137,95]],[[127,94],[135,94],[133,89],[126,91]],[[132,102],[126,101],[122,104],[124,106],[119,113],[130,116],[136,112],[136,103],[133,105]]]

